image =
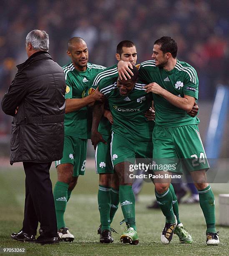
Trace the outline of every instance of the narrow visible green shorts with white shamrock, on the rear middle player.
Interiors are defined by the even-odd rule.
[[[99,142],[96,147],[96,173],[114,173],[111,163],[111,136],[103,135],[107,144]]]

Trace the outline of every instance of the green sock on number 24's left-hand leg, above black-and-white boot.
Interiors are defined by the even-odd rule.
[[[166,223],[174,223],[174,211],[172,206],[173,196],[171,191],[168,189],[163,194],[158,194],[155,190],[156,200],[160,205],[161,211],[166,217]]]

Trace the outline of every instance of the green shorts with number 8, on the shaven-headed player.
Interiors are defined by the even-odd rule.
[[[73,176],[84,175],[87,155],[87,139],[64,136],[64,148],[62,159],[55,161],[59,164],[73,164]]]

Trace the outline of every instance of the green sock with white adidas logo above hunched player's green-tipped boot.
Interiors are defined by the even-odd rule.
[[[130,185],[119,186],[119,200],[126,225],[136,230],[135,222],[135,197]]]

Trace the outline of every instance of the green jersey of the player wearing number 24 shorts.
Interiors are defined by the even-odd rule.
[[[155,66],[155,61],[144,61],[141,63],[139,74],[146,84],[156,82],[165,90],[179,97],[189,95],[198,99],[199,80],[196,70],[189,64],[177,60],[171,71],[166,71]],[[177,127],[189,124],[198,124],[197,117],[191,117],[185,110],[175,107],[164,97],[154,94],[155,121],[157,125],[164,127]]]

